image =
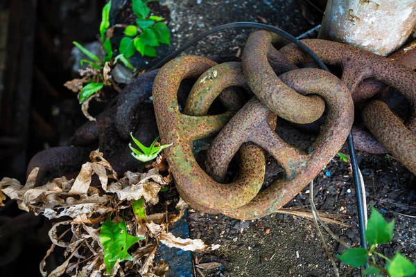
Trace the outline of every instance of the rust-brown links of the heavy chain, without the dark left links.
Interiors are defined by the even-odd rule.
[[[297,69],[311,62],[309,57],[293,44],[277,51],[273,40],[268,32],[256,31],[248,39],[241,64],[179,57],[166,64],[155,78],[153,100],[159,133],[162,143],[173,143],[165,150],[166,159],[180,195],[194,208],[239,219],[273,213],[309,184],[340,150],[352,128],[353,98],[357,102],[370,98],[385,83],[397,88],[415,108],[416,74],[405,66],[336,42],[304,40],[324,62],[342,66],[339,80],[320,69]],[[186,78],[198,80],[181,113],[177,90]],[[255,96],[239,109],[243,100],[232,87],[242,87]],[[217,97],[228,111],[207,116]],[[292,123],[312,123],[324,110],[320,134],[307,153],[274,132],[276,116]],[[367,127],[413,172],[415,118],[413,113],[405,127],[382,102],[370,102],[363,108]],[[392,133],[396,139],[392,139]],[[207,152],[205,172],[193,157],[192,143],[208,136],[215,139]],[[400,146],[388,143],[397,138]],[[265,172],[263,150],[278,161],[285,177],[260,190]],[[239,174],[232,183],[223,184],[237,152]]]

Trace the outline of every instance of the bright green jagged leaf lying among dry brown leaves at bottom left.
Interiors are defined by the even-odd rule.
[[[132,256],[127,252],[128,249],[139,240],[144,239],[146,238],[129,235],[124,221],[115,224],[110,217],[107,217],[100,230],[100,242],[104,249],[107,274],[110,274],[117,260],[132,260]]]

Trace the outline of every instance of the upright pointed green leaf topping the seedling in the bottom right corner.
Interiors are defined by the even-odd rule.
[[[367,222],[365,230],[365,240],[368,244],[389,243],[393,238],[393,229],[395,229],[395,220],[387,223],[381,213],[374,207],[371,207],[371,216]]]

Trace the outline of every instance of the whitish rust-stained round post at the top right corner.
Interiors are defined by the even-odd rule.
[[[413,0],[329,0],[320,38],[389,55],[406,42],[415,25]]]

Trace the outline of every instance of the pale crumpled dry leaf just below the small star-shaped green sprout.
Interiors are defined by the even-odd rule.
[[[146,202],[155,205],[159,202],[157,193],[161,185],[166,185],[166,182],[155,169],[143,174],[128,171],[118,182],[111,184],[108,191],[116,193],[120,200],[137,200],[143,197]]]

